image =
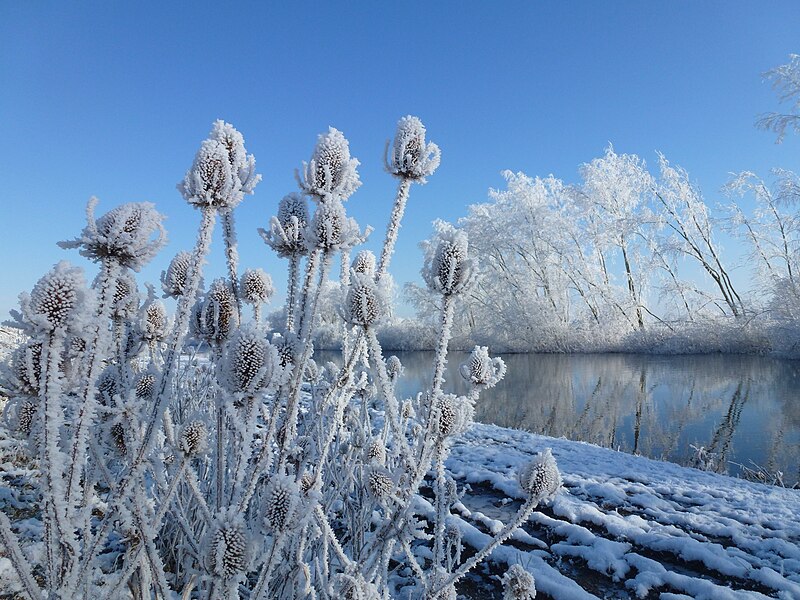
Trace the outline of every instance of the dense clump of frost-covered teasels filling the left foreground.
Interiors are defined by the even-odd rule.
[[[261,316],[272,278],[239,265],[235,209],[261,176],[231,125],[214,124],[178,185],[200,224],[194,248],[162,275],[174,315],[135,278],[163,245],[162,215],[133,203],[96,218],[92,200],[85,229],[62,245],[99,265],[94,282],[61,262],[14,315],[28,339],[3,382],[0,593],[454,599],[455,583],[561,478],[549,451],[540,453],[519,473],[527,499],[513,519],[461,555],[451,509],[463,490],[444,461],[480,392],[505,373],[476,347],[460,371],[468,393],[443,391],[455,307],[479,269],[463,230],[440,227],[426,253],[439,307],[426,389],[397,396],[402,365],[384,358],[375,334],[389,314],[388,268],[410,190],[439,159],[419,119],[401,119],[386,150],[398,191],[382,251],[351,261],[370,233],[345,209],[359,162],[340,131],[319,137],[297,174],[299,192],[260,230],[288,267],[288,302],[273,330]],[[228,275],[206,287],[217,223]],[[334,301],[338,317],[325,315],[325,326],[340,330],[341,361],[321,365],[313,339]],[[206,352],[187,355],[197,344]],[[523,566],[503,581],[509,598],[535,594]]]

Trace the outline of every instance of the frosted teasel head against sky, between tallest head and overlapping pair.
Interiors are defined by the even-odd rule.
[[[331,198],[347,200],[361,185],[359,162],[350,157],[350,144],[341,131],[330,127],[320,134],[308,163],[297,172],[300,189],[312,198],[326,201]]]

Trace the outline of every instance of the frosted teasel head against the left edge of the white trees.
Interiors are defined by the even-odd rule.
[[[468,258],[467,234],[448,223],[440,223],[438,244],[434,252],[426,252],[422,277],[428,288],[445,296],[464,291],[472,275]]]

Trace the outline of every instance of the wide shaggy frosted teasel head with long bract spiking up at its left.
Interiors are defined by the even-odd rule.
[[[89,199],[87,225],[80,237],[60,242],[62,248],[80,248],[80,253],[95,261],[113,259],[121,266],[139,271],[161,250],[167,234],[161,224],[164,216],[150,202],[131,202],[94,218],[98,200]]]

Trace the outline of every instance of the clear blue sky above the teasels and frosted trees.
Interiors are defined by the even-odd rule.
[[[504,169],[575,181],[618,152],[685,167],[707,199],[730,171],[800,168],[800,141],[753,127],[778,103],[760,74],[800,52],[798,2],[81,2],[0,0],[0,313],[53,263],[55,242],[123,202],[152,201],[170,245],[156,281],[193,243],[199,215],[175,184],[217,118],[264,180],[238,212],[242,266],[283,290],[256,234],[296,189],[294,169],[329,125],[361,160],[348,210],[382,239],[395,182],[383,172],[397,119],[442,148],[412,190],[393,272],[418,277],[436,217],[502,187]],[[215,240],[222,273],[221,241]],[[90,276],[95,270],[90,267]]]

